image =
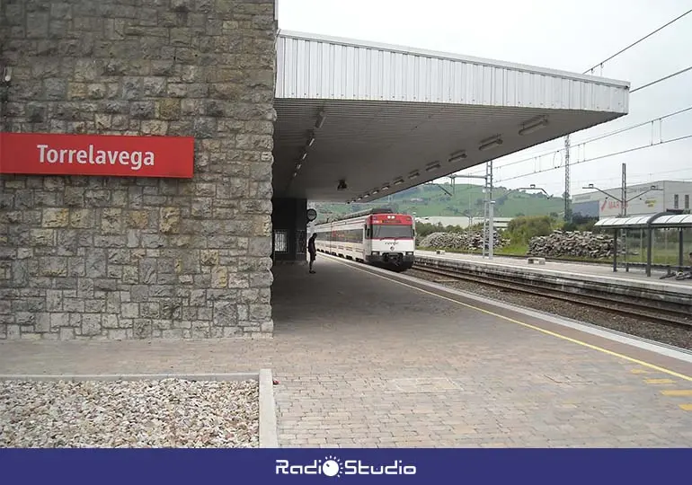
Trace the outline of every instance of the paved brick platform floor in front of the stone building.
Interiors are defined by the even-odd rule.
[[[275,269],[273,339],[3,341],[0,374],[271,367],[280,446],[692,445],[688,362],[321,254],[315,269]]]

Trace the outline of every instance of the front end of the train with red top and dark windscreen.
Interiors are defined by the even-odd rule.
[[[413,267],[415,238],[413,217],[405,214],[375,214],[371,216],[371,251],[368,263],[386,269],[404,271]]]

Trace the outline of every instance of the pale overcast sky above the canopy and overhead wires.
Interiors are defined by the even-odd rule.
[[[635,40],[692,9],[692,0],[277,0],[279,29],[383,42],[529,66],[583,73]],[[628,81],[631,89],[692,66],[692,13],[594,75]],[[629,113],[572,134],[571,192],[621,183],[692,181],[692,110],[642,128],[580,145],[590,138],[692,107],[692,71],[630,94]],[[653,125],[653,128],[652,128]],[[652,140],[653,144],[652,145]],[[494,185],[535,184],[562,195],[563,139],[493,162]],[[641,150],[616,154],[649,145]],[[543,156],[538,156],[543,155]],[[608,156],[612,155],[612,156]],[[598,160],[591,160],[600,157]],[[528,160],[526,160],[528,159]],[[519,163],[515,163],[519,162]],[[502,167],[508,163],[510,166]],[[548,170],[556,166],[555,170]],[[466,174],[483,174],[484,166]],[[440,180],[443,181],[443,180]],[[448,181],[448,179],[447,179]],[[463,183],[457,179],[457,183]],[[473,179],[467,183],[478,183]]]

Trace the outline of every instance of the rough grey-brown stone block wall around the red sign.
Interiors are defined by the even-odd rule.
[[[2,130],[195,137],[192,180],[0,175],[0,339],[271,334],[273,0],[4,0]]]

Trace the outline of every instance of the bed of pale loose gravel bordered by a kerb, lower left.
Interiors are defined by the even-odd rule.
[[[0,447],[257,447],[256,381],[2,381]]]

